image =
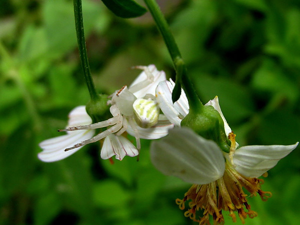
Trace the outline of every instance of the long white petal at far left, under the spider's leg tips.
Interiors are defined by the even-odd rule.
[[[80,143],[83,140],[89,139],[94,135],[94,130],[76,130],[71,131],[65,135],[46,139],[39,143],[43,149],[37,154],[38,158],[45,162],[58,161],[75,153],[81,147],[73,150],[64,151],[65,148]]]

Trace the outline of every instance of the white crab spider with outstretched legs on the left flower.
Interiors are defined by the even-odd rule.
[[[153,97],[154,96],[151,98]],[[78,129],[97,129],[111,126],[88,140],[84,140],[81,143],[77,143],[72,147],[66,148],[65,151],[96,142],[111,133],[121,135],[124,131],[126,131],[128,123],[134,132],[136,148],[138,151],[140,150],[139,133],[138,129],[136,128],[136,124],[142,128],[149,128],[158,122],[159,107],[157,106],[155,100],[143,98],[136,99],[136,97],[130,91],[128,91],[127,86],[123,86],[115,93],[115,95],[112,96],[112,99],[108,101],[108,103],[112,104],[109,108],[110,113],[113,115],[112,118],[88,125],[73,126],[59,130],[72,131]],[[133,119],[135,119],[136,123],[133,121]]]

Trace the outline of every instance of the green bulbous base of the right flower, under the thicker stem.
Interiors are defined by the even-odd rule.
[[[219,112],[211,105],[204,105],[200,111],[189,113],[182,119],[181,126],[187,126],[200,136],[215,141],[225,152],[229,152],[230,140],[224,130]]]

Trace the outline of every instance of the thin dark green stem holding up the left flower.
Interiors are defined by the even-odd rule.
[[[96,92],[94,83],[92,81],[87,53],[86,53],[81,0],[73,0],[73,4],[74,4],[76,36],[77,36],[79,56],[80,56],[80,61],[83,69],[83,74],[89,91],[90,99],[91,101],[96,101],[98,99],[98,94]]]

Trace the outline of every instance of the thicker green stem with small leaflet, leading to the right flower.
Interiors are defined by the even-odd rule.
[[[163,40],[166,44],[166,47],[169,51],[169,54],[172,58],[175,70],[176,70],[176,84],[174,87],[174,91],[180,91],[180,84],[182,85],[183,90],[185,91],[186,97],[188,99],[188,104],[190,110],[200,110],[203,107],[202,102],[200,101],[198,95],[196,94],[189,77],[186,74],[186,66],[181,57],[179,48],[175,42],[175,39],[170,31],[170,28],[155,0],[144,0],[146,3],[157,27],[160,31]],[[179,87],[179,88],[178,88]],[[173,92],[174,92],[173,91]],[[177,92],[178,93],[178,92]],[[179,94],[175,93],[172,96],[173,100],[177,100],[180,96]]]

